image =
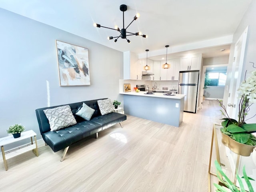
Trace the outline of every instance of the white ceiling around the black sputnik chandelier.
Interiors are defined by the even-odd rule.
[[[88,40],[122,52],[144,53],[146,49],[163,50],[165,45],[180,46],[194,42],[233,35],[252,0],[0,0],[0,8],[26,16],[33,20],[76,34]],[[119,38],[117,42],[108,36],[120,33],[102,26],[122,28],[122,12],[126,4],[125,27],[136,13],[140,18],[128,28],[128,32],[142,32],[148,38],[129,36],[130,44]],[[225,47],[224,52],[219,50]],[[203,57],[229,54],[229,45],[194,50]],[[191,52],[191,51],[190,51]],[[178,55],[188,52],[179,52]],[[175,57],[174,54],[168,57]],[[160,54],[160,57],[161,54]]]

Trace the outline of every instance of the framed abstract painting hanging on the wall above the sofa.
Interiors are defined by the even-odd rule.
[[[90,85],[88,49],[56,40],[60,86]]]

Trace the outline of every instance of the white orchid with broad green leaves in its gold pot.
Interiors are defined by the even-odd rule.
[[[240,96],[238,120],[230,118],[222,100],[217,100],[224,110],[224,112],[223,110],[220,111],[226,117],[222,119],[224,120],[221,123],[223,128],[220,129],[222,143],[237,154],[250,156],[250,153],[256,147],[256,137],[252,134],[256,132],[256,123],[246,124],[245,117],[250,110],[250,106],[256,103],[256,70],[252,72],[252,76],[240,84],[238,94]]]

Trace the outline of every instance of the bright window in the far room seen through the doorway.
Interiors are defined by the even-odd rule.
[[[205,86],[225,86],[226,76],[226,72],[206,72],[205,82],[208,82],[208,85]]]

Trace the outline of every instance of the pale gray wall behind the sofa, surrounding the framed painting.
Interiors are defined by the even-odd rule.
[[[123,102],[119,95],[122,52],[3,9],[0,20],[0,137],[7,136],[6,129],[18,123],[41,138],[35,109],[47,106],[46,81],[51,106],[98,98]],[[90,86],[59,86],[55,40],[88,48]]]

